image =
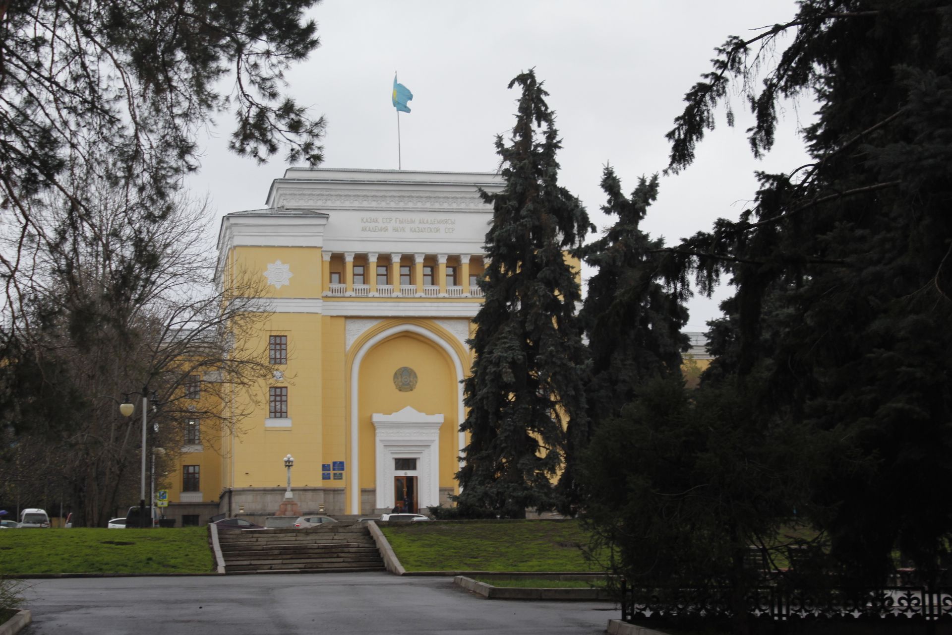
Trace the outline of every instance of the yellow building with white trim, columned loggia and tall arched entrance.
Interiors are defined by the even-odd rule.
[[[479,189],[502,187],[494,173],[288,169],[267,208],[228,214],[219,275],[257,276],[270,315],[237,346],[275,371],[232,397],[253,413],[220,444],[185,448],[168,515],[272,515],[287,454],[305,512],[446,504],[466,446],[461,381],[492,216]]]

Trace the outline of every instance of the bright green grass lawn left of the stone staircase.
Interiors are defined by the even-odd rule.
[[[208,527],[0,531],[0,574],[4,575],[213,570]]]

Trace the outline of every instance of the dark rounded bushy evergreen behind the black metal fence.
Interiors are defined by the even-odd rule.
[[[748,632],[745,596],[763,582],[754,563],[785,564],[783,527],[796,525],[794,448],[804,449],[800,431],[765,422],[732,384],[689,389],[673,374],[643,383],[585,452],[586,485],[598,492],[583,512],[593,553],[639,599],[724,589],[731,632]]]

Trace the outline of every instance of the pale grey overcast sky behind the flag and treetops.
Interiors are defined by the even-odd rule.
[[[664,133],[714,48],[795,12],[793,0],[325,0],[312,10],[321,47],[288,73],[288,91],[327,117],[323,167],[396,169],[390,91],[398,71],[413,92],[412,112],[400,115],[403,168],[493,171],[494,137],[515,121],[518,94],[506,85],[534,67],[557,112],[560,181],[601,229],[605,163],[627,191],[638,176],[664,169]],[[742,98],[734,94],[733,103],[744,115]],[[753,197],[753,170],[803,163],[797,131],[812,111],[809,103],[788,105],[777,146],[760,162],[744,135],[749,118],[739,116],[730,129],[722,112],[695,164],[662,178],[646,230],[670,244],[718,217],[736,218]],[[230,125],[222,117],[218,129],[202,132],[206,154],[189,183],[196,195],[208,194],[216,219],[263,208],[271,180],[286,168],[280,158],[256,166],[228,154]],[[688,307],[688,330],[704,330],[719,314],[717,300],[696,297]]]

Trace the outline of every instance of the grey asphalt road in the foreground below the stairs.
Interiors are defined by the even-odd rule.
[[[22,635],[602,633],[604,602],[486,600],[387,573],[29,580]]]

